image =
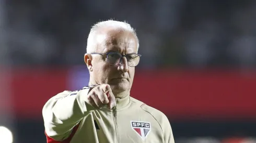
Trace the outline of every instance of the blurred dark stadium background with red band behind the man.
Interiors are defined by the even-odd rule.
[[[88,84],[87,36],[111,18],[140,41],[131,96],[176,143],[256,142],[256,1],[0,0],[1,143],[46,142],[44,103]]]

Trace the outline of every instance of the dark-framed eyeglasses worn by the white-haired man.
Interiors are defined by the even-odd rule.
[[[112,66],[117,66],[120,64],[122,57],[125,57],[127,60],[127,64],[130,67],[135,67],[138,65],[139,59],[142,55],[139,54],[127,54],[121,55],[117,52],[109,52],[109,53],[92,53],[92,54],[99,54],[99,55],[107,55],[107,61]]]

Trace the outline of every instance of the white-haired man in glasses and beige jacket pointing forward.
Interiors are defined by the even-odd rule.
[[[141,57],[138,46],[128,23],[108,20],[92,27],[84,56],[89,86],[64,91],[46,102],[43,119],[48,143],[174,143],[166,115],[130,97]]]

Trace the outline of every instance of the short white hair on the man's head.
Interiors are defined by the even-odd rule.
[[[86,47],[86,52],[88,54],[94,53],[97,50],[97,43],[95,42],[95,37],[96,34],[99,30],[102,28],[113,28],[113,29],[122,29],[125,31],[129,31],[134,34],[136,40],[137,40],[137,52],[138,52],[138,47],[139,47],[139,41],[137,34],[135,32],[135,29],[131,27],[131,25],[127,22],[121,22],[121,21],[115,21],[115,20],[107,20],[107,21],[101,21],[96,23],[95,25],[92,26],[90,33],[87,38],[87,47]]]

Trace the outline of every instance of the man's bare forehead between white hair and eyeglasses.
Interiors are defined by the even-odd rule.
[[[124,30],[110,30],[104,34],[105,38],[100,44],[101,50],[107,52],[109,50],[115,51],[137,51],[137,38],[130,31]]]

